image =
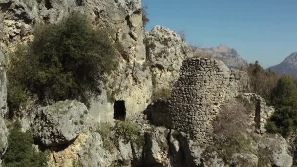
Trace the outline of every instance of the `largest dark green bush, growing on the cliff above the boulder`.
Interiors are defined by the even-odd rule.
[[[115,47],[107,30],[94,29],[78,13],[57,24],[38,25],[34,40],[11,56],[8,103],[16,107],[27,92],[40,101],[87,103],[100,93],[103,74],[116,66]]]

